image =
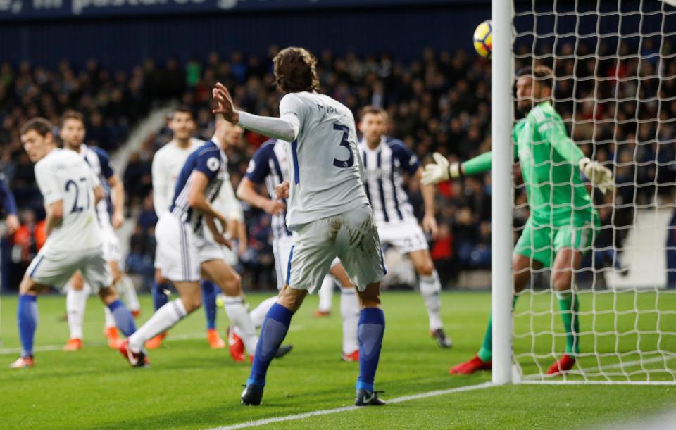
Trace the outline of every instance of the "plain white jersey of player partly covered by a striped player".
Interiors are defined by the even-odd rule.
[[[153,205],[155,213],[160,217],[169,211],[174,198],[176,179],[188,156],[204,141],[192,138],[187,148],[178,146],[175,140],[160,148],[153,158]]]

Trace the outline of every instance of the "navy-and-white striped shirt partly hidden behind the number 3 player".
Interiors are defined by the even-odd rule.
[[[289,180],[290,177],[289,159],[284,144],[288,144],[288,142],[277,139],[266,141],[253,154],[251,161],[249,161],[249,168],[246,169],[246,177],[251,182],[254,184],[265,182],[268,196],[273,199],[275,198],[275,186],[281,184],[284,180]],[[273,215],[271,225],[275,239],[291,236],[291,232],[287,228],[286,212]]]

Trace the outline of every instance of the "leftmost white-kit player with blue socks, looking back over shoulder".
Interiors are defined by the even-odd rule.
[[[56,148],[54,125],[44,118],[27,121],[21,143],[35,163],[35,180],[44,198],[47,240],[28,266],[19,286],[17,320],[21,356],[11,367],[32,367],[37,327],[37,295],[49,286],[61,287],[77,270],[111,310],[125,336],[134,319],[118,298],[103,254],[94,205],[104,197],[99,179],[82,157]]]

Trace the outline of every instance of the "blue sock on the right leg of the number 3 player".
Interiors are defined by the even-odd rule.
[[[380,360],[385,315],[380,308],[364,308],[359,315],[359,377],[356,389],[373,391],[373,379]]]

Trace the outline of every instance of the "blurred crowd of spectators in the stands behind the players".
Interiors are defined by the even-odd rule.
[[[676,127],[672,122],[676,117],[676,59],[668,55],[673,54],[674,46],[668,43],[662,46],[667,55],[661,62],[652,42],[644,43],[640,52],[622,44],[619,61],[602,59],[614,53],[615,46],[602,45],[599,56],[586,55],[591,51],[583,43],[558,44],[556,49],[563,59],[537,57],[539,63],[553,66],[557,75],[554,106],[587,155],[616,166],[615,201],[595,196],[599,204],[614,203],[618,207],[617,216],[605,216],[603,221],[613,222],[615,227],[630,225],[633,208],[629,205],[651,204],[658,194],[672,191],[676,178]],[[551,47],[542,46],[540,50],[551,53]],[[161,67],[149,60],[128,73],[107,70],[95,61],[87,63],[83,70],[73,70],[66,63],[57,70],[27,64],[16,68],[2,65],[0,168],[11,179],[19,206],[39,212],[32,166],[16,134],[18,125],[26,118],[46,115],[56,119],[65,107],[75,107],[88,119],[87,143],[114,151],[125,141],[134,122],[149,111],[151,102],[178,99],[194,107],[196,137],[209,139],[213,133],[211,88],[215,82],[223,82],[231,89],[240,108],[261,115],[277,115],[282,94],[275,88],[270,69],[270,59],[275,53],[274,46],[266,56],[239,51],[227,55],[211,53],[204,61],[180,64],[169,60]],[[530,47],[518,48],[517,53],[517,67],[532,63]],[[573,53],[583,57],[572,61],[568,56]],[[365,105],[385,108],[391,125],[389,134],[403,140],[419,158],[424,160],[428,154],[439,151],[451,159],[466,160],[489,151],[489,61],[465,51],[430,49],[408,63],[389,53],[358,56],[322,51],[317,56],[322,91],[355,113]],[[170,132],[165,128],[151,135],[132,154],[123,174],[127,199],[141,213],[132,236],[135,257],[130,266],[137,258],[152,262],[151,162],[154,152],[169,140]],[[227,154],[234,186],[244,175],[251,154],[263,141],[265,137],[246,132],[239,145]],[[516,168],[515,178],[519,182]],[[32,193],[26,191],[30,187]],[[408,187],[413,205],[420,210],[419,184],[409,181]],[[448,279],[461,267],[489,267],[489,175],[439,184],[437,190],[437,220],[442,228],[439,238],[430,240],[430,249],[439,272]],[[522,187],[517,190],[515,226],[520,227],[528,212],[524,190]],[[261,267],[270,268],[273,258],[268,244],[268,215],[246,207],[246,224],[249,248],[253,251],[241,256],[245,270],[260,272]],[[621,239],[622,234],[612,234],[608,240]],[[138,267],[134,270],[142,271]]]

